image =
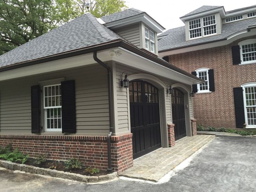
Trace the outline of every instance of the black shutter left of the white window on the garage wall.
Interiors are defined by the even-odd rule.
[[[31,133],[40,133],[40,87],[31,87]]]

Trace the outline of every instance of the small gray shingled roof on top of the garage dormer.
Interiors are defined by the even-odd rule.
[[[145,13],[145,12],[141,11],[141,10],[138,10],[138,9],[130,8],[130,9],[127,9],[127,10],[124,10],[124,11],[120,11],[118,13],[103,16],[103,17],[101,17],[101,19],[105,23],[110,23],[110,22],[113,22],[113,21],[118,21],[120,19],[127,18],[127,17],[139,15],[139,14],[142,14],[142,13]]]

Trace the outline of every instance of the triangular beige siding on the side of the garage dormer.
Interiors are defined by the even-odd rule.
[[[137,47],[141,45],[139,37],[139,24],[117,29],[115,30],[115,33],[119,34],[121,37],[125,38]]]

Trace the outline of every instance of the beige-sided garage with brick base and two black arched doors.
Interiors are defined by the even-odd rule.
[[[120,173],[195,135],[191,85],[205,81],[158,57],[163,30],[133,8],[86,13],[1,55],[0,146]]]

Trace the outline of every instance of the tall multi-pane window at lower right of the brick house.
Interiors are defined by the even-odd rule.
[[[245,87],[247,125],[256,126],[256,86]]]

